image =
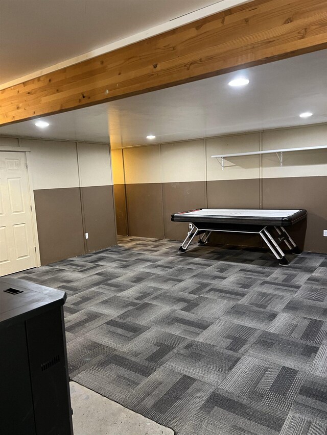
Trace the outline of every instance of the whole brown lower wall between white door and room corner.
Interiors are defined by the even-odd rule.
[[[42,265],[116,244],[112,186],[34,190],[34,199]]]

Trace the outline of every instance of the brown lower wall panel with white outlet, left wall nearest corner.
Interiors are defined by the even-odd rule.
[[[81,187],[84,231],[88,233],[86,252],[116,244],[112,186]]]

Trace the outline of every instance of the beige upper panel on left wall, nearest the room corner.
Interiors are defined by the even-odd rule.
[[[77,144],[80,186],[112,185],[109,145]]]

